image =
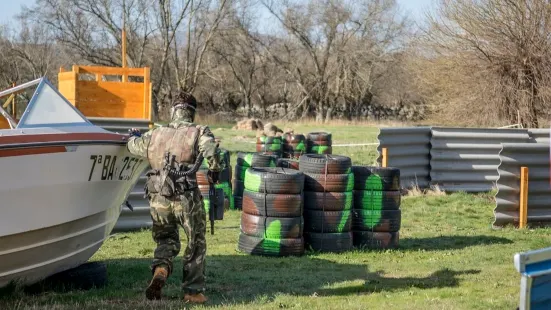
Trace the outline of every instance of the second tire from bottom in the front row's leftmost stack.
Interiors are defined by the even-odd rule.
[[[301,238],[304,219],[298,217],[266,217],[241,212],[241,232],[268,239]]]

